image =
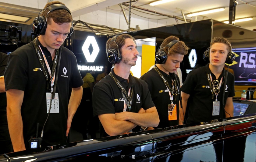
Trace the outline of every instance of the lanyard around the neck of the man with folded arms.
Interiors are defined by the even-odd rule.
[[[115,75],[112,74],[112,72],[109,73],[109,75],[112,77],[112,79],[116,82],[116,85],[119,87],[119,89],[121,90],[124,102],[126,103],[126,106],[129,108],[130,110],[130,106],[132,104],[132,100],[133,100],[133,86],[130,88],[131,89],[131,94],[129,96],[129,94],[127,94],[126,90],[124,89],[124,87],[122,86],[122,84],[119,82],[119,80],[116,78]],[[125,94],[124,94],[125,93]],[[126,97],[128,96],[128,97]],[[128,99],[127,99],[128,98]]]

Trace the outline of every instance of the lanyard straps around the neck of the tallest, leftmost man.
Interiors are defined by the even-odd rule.
[[[40,61],[40,64],[41,64],[41,68],[43,69],[43,72],[44,72],[44,76],[46,78],[46,89],[48,89],[48,86],[49,84],[51,83],[51,86],[53,88],[53,85],[54,85],[54,78],[55,78],[55,70],[56,70],[56,67],[57,67],[57,63],[58,63],[58,57],[59,57],[59,49],[57,50],[57,52],[55,53],[55,58],[53,60],[53,66],[52,66],[52,71],[49,67],[49,64],[48,64],[48,61],[47,59],[45,58],[44,56],[44,53],[43,51],[41,50],[41,47],[40,45],[38,45],[38,37],[36,37],[34,39],[34,47],[36,49],[36,53],[37,53],[37,57]],[[50,75],[50,81],[48,82],[48,75],[47,75],[47,72],[46,70],[44,69],[44,62],[45,62],[45,65],[48,69],[48,73]]]

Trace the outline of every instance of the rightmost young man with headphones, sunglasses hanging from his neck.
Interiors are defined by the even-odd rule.
[[[233,116],[235,78],[224,69],[225,63],[231,64],[235,59],[230,42],[221,37],[212,39],[204,59],[210,63],[192,70],[181,87],[184,114],[188,109],[187,123]],[[184,116],[180,123],[183,121]]]

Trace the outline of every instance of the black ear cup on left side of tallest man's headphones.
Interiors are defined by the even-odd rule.
[[[46,24],[46,21],[44,19],[44,16],[36,17],[33,20],[33,31],[37,35],[44,34],[46,26],[47,26],[47,24]]]

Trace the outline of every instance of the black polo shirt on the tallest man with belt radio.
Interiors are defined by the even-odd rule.
[[[46,78],[41,68],[34,48],[34,42],[24,45],[10,54],[5,70],[5,89],[19,89],[24,91],[21,116],[23,120],[23,136],[27,147],[30,136],[38,134],[48,116],[46,109]],[[40,43],[49,65],[52,65],[52,56],[47,48]],[[59,62],[58,62],[59,64]],[[44,63],[47,75],[48,70]],[[52,69],[51,69],[52,70]],[[76,57],[73,52],[62,47],[60,69],[56,93],[59,94],[59,113],[51,113],[44,127],[44,146],[66,143],[66,129],[68,117],[69,86],[77,88],[83,85],[83,79],[77,68]]]

